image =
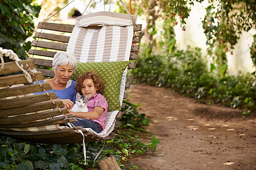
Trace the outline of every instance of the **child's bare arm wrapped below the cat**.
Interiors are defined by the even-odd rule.
[[[72,113],[75,117],[78,118],[89,118],[96,120],[101,116],[101,114],[104,112],[104,108],[102,107],[95,107],[92,112],[72,112],[69,111],[69,113]]]

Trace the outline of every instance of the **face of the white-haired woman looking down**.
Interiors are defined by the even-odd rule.
[[[69,65],[57,66],[55,71],[55,78],[60,84],[67,84],[68,80],[71,79],[74,68]]]

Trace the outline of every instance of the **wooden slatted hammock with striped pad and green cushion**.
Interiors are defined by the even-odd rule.
[[[32,42],[34,49],[28,52],[31,58],[20,61],[12,50],[0,48],[0,134],[57,144],[113,139],[112,131],[118,126],[121,107],[125,107],[122,101],[127,99],[126,89],[131,84],[129,72],[135,68],[142,25],[136,24],[134,15],[96,12],[80,16],[75,25],[43,22],[38,28],[38,40]],[[52,70],[42,66],[52,67],[52,57],[60,50],[75,54],[79,62],[73,80],[88,70],[96,70],[106,80],[104,96],[109,108],[101,133],[90,128],[60,126],[65,122],[72,125],[76,119],[66,115],[69,112],[61,100],[54,100],[57,97],[53,92],[46,92],[51,89],[48,83],[32,84],[44,76],[54,76]],[[3,56],[14,61],[4,63]],[[39,91],[44,94],[31,95]]]

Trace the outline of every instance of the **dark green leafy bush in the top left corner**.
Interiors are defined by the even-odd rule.
[[[38,17],[40,6],[32,5],[34,0],[1,0],[0,3],[0,46],[12,49],[22,59],[27,58],[30,41],[34,31],[35,17]]]

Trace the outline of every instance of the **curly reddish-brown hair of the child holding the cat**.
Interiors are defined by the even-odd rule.
[[[96,71],[90,70],[86,71],[84,74],[79,75],[79,77],[76,80],[76,92],[79,92],[82,94],[82,83],[85,79],[92,79],[94,86],[98,89],[96,92],[97,94],[102,94],[102,92],[105,90],[105,80],[102,79]]]

